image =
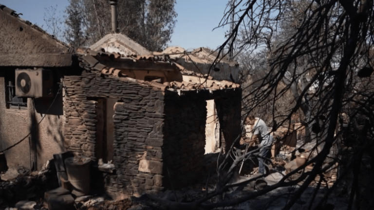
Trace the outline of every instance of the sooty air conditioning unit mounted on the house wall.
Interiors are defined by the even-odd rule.
[[[19,97],[52,97],[51,70],[16,70],[16,95]]]

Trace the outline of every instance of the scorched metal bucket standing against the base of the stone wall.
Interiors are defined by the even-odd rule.
[[[87,195],[90,192],[90,162],[89,157],[69,157],[65,159],[66,173],[76,196]]]

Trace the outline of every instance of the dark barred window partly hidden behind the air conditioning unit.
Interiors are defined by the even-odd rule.
[[[27,109],[27,98],[16,96],[15,72],[11,72],[5,75],[6,108]]]

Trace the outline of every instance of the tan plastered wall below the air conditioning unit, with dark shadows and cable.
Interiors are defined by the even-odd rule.
[[[42,119],[45,109],[40,108],[35,110],[32,99],[28,99],[27,109],[6,108],[5,101],[5,81],[4,77],[0,77],[0,151],[14,145],[15,143],[26,137],[31,131],[31,147],[30,140],[27,137],[15,147],[5,152],[5,157],[9,167],[23,166],[31,167],[31,161],[35,161],[35,152],[37,156],[37,170],[53,158],[53,154],[60,153],[63,148],[62,127],[64,123],[64,116],[62,115],[47,115],[42,123],[38,126],[38,122]],[[61,96],[59,96],[61,99]],[[53,105],[55,109],[62,109],[62,103]],[[38,101],[35,101],[37,106]],[[52,109],[53,109],[52,108]],[[38,112],[39,111],[39,112]],[[33,129],[32,129],[33,127]],[[35,144],[34,144],[35,143]],[[36,150],[35,150],[36,148]]]

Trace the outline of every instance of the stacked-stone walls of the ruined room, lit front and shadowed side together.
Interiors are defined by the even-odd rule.
[[[114,174],[105,175],[111,195],[140,195],[184,187],[202,177],[206,143],[206,100],[214,99],[227,147],[240,134],[241,89],[174,91],[128,78],[83,71],[64,78],[65,146],[97,160],[98,101],[118,98],[112,117]],[[96,148],[95,148],[96,147]],[[108,147],[109,148],[109,147]],[[170,178],[168,177],[168,171]]]

